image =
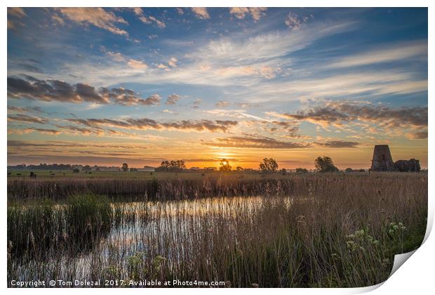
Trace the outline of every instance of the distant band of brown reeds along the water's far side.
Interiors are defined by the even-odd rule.
[[[168,173],[173,177],[173,173]],[[391,182],[396,180],[427,181],[427,173],[289,173],[286,176],[258,173],[215,173],[201,176],[180,173],[176,179],[126,179],[126,178],[62,178],[62,179],[10,179],[8,201],[21,199],[52,199],[59,201],[78,194],[105,195],[116,201],[147,201],[194,199],[197,197],[234,197],[252,195],[316,195],[331,190],[359,190],[379,188],[386,194]],[[163,177],[163,176],[161,176]],[[385,190],[384,190],[385,189]],[[354,193],[354,192],[352,192]]]

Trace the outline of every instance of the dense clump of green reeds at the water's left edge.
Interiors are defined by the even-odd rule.
[[[8,241],[14,255],[45,256],[48,249],[92,247],[112,227],[112,207],[106,197],[74,195],[66,204],[40,199],[8,206]],[[83,248],[83,249],[85,249]]]

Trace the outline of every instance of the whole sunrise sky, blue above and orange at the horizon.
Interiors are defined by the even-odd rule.
[[[8,8],[8,164],[427,168],[427,8]]]

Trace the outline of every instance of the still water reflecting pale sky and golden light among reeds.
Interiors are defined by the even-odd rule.
[[[265,214],[269,209],[273,219],[276,208],[287,208],[291,202],[290,197],[214,197],[112,204],[123,219],[93,249],[74,255],[55,251],[47,261],[14,259],[13,273],[20,280],[90,280],[118,271],[128,276],[136,261],[154,265],[156,257],[173,269],[199,257],[211,263],[213,250],[236,247],[242,235],[255,235],[260,210]]]

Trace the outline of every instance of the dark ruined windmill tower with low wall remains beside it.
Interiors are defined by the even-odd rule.
[[[418,172],[420,171],[420,161],[417,159],[393,161],[388,145],[375,145],[371,171],[400,171]]]

